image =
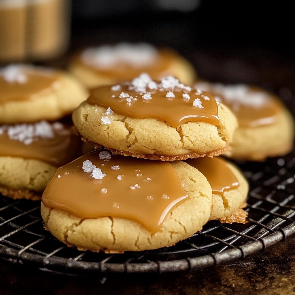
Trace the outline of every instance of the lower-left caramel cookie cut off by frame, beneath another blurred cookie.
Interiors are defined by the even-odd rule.
[[[60,122],[0,126],[0,193],[40,199],[58,167],[80,153],[80,140]]]

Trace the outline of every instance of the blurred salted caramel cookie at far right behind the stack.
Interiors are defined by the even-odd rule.
[[[238,119],[226,155],[233,159],[262,161],[289,153],[293,147],[294,119],[278,97],[258,87],[197,83],[214,92]]]

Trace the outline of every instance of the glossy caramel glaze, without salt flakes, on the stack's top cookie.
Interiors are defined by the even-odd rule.
[[[137,98],[137,101],[133,101],[130,106],[125,98],[119,98],[122,91]],[[183,91],[174,90],[175,98],[167,98],[167,92],[167,90],[150,90],[152,99],[145,100],[142,99],[140,93],[128,90],[128,86],[125,85],[122,86],[120,91],[112,91],[111,86],[101,86],[91,90],[87,101],[92,105],[110,107],[113,112],[123,116],[137,119],[158,119],[174,128],[187,122],[219,124],[218,105],[212,94],[203,92],[196,95],[196,90],[193,89],[188,93],[191,98],[187,101],[182,96]],[[112,95],[115,97],[112,97]],[[209,97],[210,100],[205,100],[201,95]],[[203,108],[193,106],[193,101],[197,98],[202,102]]]

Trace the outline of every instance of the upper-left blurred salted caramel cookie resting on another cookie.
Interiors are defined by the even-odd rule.
[[[0,124],[56,120],[88,96],[76,78],[33,65],[0,68]]]

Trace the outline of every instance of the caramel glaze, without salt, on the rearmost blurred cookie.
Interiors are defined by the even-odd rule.
[[[104,77],[110,77],[113,81],[125,81],[131,80],[143,72],[148,73],[153,79],[161,78],[170,74],[169,67],[177,58],[179,57],[176,52],[171,49],[163,48],[158,50],[158,57],[155,58],[154,62],[149,66],[144,67],[131,67],[130,64],[120,63],[117,64],[116,67],[112,68],[96,68],[84,63],[81,58],[81,53],[74,57],[73,61],[88,68],[94,73]]]

